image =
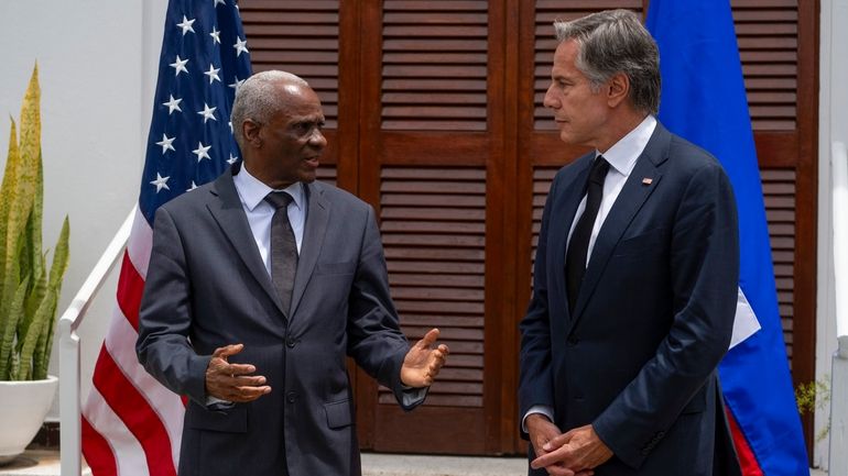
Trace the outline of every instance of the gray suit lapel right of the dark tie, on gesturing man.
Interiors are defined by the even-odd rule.
[[[294,278],[294,290],[292,291],[292,312],[294,316],[297,305],[301,303],[306,285],[315,270],[315,264],[320,255],[320,247],[324,244],[324,236],[327,233],[327,223],[329,222],[329,202],[324,197],[323,186],[317,182],[304,184],[306,191],[306,202],[308,209],[306,212],[306,225],[303,232],[303,242],[301,244],[301,256],[297,259],[297,273]]]

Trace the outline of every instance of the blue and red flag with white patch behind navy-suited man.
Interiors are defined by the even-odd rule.
[[[660,121],[715,155],[736,192],[739,302],[719,376],[742,473],[807,476],[729,1],[651,0],[646,26],[660,47]]]

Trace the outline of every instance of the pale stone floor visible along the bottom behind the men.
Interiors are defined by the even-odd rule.
[[[362,476],[522,476],[526,474],[524,458],[421,456],[402,454],[362,454]],[[85,476],[91,474],[84,471]],[[7,466],[0,476],[58,476],[58,452],[28,451]],[[811,476],[827,473],[812,469]]]

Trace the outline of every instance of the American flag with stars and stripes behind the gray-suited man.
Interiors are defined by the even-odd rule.
[[[83,408],[95,476],[176,475],[184,407],[139,365],[139,305],[156,209],[239,159],[229,122],[250,56],[235,0],[171,0],[135,215],[117,307]]]

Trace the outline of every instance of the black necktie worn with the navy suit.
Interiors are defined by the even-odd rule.
[[[600,209],[600,199],[604,197],[604,179],[609,171],[609,163],[598,156],[591,164],[589,180],[586,184],[586,210],[583,211],[577,225],[572,232],[568,242],[568,251],[565,254],[565,285],[568,291],[568,310],[574,312],[577,295],[580,292],[583,276],[586,274],[586,256],[589,250],[591,229]]]

